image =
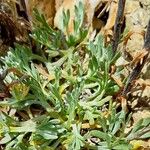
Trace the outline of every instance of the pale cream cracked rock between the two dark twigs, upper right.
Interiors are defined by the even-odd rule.
[[[143,5],[150,6],[150,1],[143,3],[143,1],[140,2],[139,0],[127,0],[126,2],[126,28],[129,31],[138,32],[131,36],[131,40],[127,44],[127,51],[131,53],[141,50],[143,47],[144,39],[139,33],[146,29],[149,19],[147,17],[149,10],[144,9]]]

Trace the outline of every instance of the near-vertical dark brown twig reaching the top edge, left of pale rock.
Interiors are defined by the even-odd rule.
[[[112,41],[112,51],[114,54],[118,48],[118,43],[120,40],[121,27],[124,18],[125,2],[126,0],[119,0],[118,2],[118,11],[117,11],[116,21],[114,25],[114,33],[113,33],[113,41]]]

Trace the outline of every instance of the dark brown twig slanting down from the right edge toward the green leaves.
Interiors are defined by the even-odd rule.
[[[127,93],[130,91],[130,89],[132,88],[132,81],[138,78],[140,72],[142,71],[143,66],[145,65],[145,63],[147,61],[148,55],[150,53],[150,20],[149,20],[148,26],[147,26],[147,32],[146,32],[146,36],[145,36],[145,42],[144,42],[143,49],[148,51],[148,53],[142,58],[143,59],[142,63],[141,63],[141,60],[138,61],[135,68],[129,75],[127,83],[121,93],[122,96],[126,96]]]

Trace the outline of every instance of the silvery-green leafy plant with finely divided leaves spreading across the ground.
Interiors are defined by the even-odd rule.
[[[125,132],[131,115],[117,111],[113,95],[119,86],[110,77],[120,54],[113,56],[100,35],[87,38],[83,10],[82,3],[75,7],[72,34],[69,11],[58,31],[35,10],[31,37],[40,54],[16,44],[1,58],[2,70],[17,70],[5,78],[11,96],[0,101],[0,144],[6,150],[130,150],[131,140],[150,137],[150,118]]]

